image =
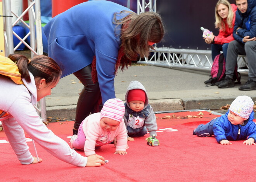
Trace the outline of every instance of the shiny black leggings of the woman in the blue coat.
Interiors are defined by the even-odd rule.
[[[73,73],[80,82],[83,83],[83,90],[78,98],[76,105],[76,119],[74,129],[78,129],[81,122],[89,116],[90,113],[99,112],[102,109],[102,103],[99,108],[95,108],[101,97],[99,83],[93,83],[91,65]]]

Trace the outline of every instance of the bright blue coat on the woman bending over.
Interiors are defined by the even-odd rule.
[[[62,77],[81,70],[96,56],[102,102],[116,98],[115,64],[121,26],[113,24],[114,13],[130,9],[109,1],[89,1],[55,16],[44,27],[48,55],[62,68]],[[117,19],[123,18],[117,16]]]

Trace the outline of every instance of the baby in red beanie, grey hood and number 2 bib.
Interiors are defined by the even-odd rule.
[[[157,124],[154,111],[149,104],[145,87],[138,81],[131,81],[125,95],[125,126],[127,140],[135,136],[156,135]]]

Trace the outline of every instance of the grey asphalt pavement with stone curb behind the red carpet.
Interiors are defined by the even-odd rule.
[[[125,93],[133,80],[141,82],[147,90],[149,104],[154,112],[176,112],[182,110],[220,110],[231,104],[240,95],[247,95],[256,101],[256,90],[241,91],[240,85],[234,88],[206,87],[209,71],[188,69],[170,69],[149,65],[133,65],[128,70],[119,71],[115,78],[116,97],[125,101]],[[248,79],[241,75],[241,84]],[[72,120],[75,118],[76,103],[82,83],[73,75],[61,78],[52,90],[52,95],[45,98],[47,117]]]

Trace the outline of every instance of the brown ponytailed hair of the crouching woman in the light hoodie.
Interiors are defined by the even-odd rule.
[[[27,82],[31,82],[29,72],[35,78],[45,78],[46,83],[55,83],[61,77],[61,68],[48,56],[39,55],[29,60],[21,54],[10,54],[8,58],[17,63],[21,78],[24,78]]]

